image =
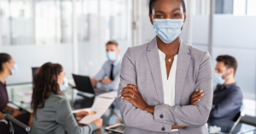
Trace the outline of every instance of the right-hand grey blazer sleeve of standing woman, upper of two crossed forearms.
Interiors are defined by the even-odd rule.
[[[204,53],[199,66],[195,87],[204,90],[205,97],[195,105],[166,104],[154,107],[154,119],[159,122],[171,121],[177,126],[201,127],[207,123],[212,109],[212,61],[209,53]],[[160,118],[164,117],[164,118]]]

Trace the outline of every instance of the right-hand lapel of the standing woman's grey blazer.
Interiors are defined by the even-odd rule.
[[[189,62],[191,56],[189,55],[189,47],[181,40],[177,54],[177,70],[176,70],[176,82],[175,82],[175,104],[179,105],[185,78],[189,69]]]

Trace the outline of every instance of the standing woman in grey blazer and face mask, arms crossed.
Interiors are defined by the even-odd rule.
[[[150,0],[149,19],[157,36],[130,47],[123,58],[119,106],[125,133],[208,133],[212,61],[179,37],[186,21],[184,0]],[[198,89],[204,94],[191,105],[190,95]]]

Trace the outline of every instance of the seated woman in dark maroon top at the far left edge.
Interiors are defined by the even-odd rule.
[[[0,53],[0,120],[5,120],[4,114],[11,114],[15,119],[20,120],[27,126],[32,125],[30,120],[31,114],[21,114],[18,109],[13,109],[7,105],[9,98],[6,90],[6,79],[9,75],[15,75],[17,73],[17,65],[15,60],[7,53]],[[0,130],[3,130],[4,126],[0,126]],[[2,131],[0,131],[1,133]]]

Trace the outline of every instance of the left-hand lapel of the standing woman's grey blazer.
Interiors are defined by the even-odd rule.
[[[154,88],[156,90],[157,97],[159,99],[160,104],[164,103],[163,82],[160,70],[160,57],[156,37],[154,37],[154,39],[148,43],[147,59],[153,77]]]

